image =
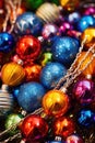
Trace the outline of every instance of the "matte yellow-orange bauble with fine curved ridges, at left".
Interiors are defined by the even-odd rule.
[[[16,63],[8,63],[1,69],[1,79],[5,85],[17,86],[25,77],[24,69]]]

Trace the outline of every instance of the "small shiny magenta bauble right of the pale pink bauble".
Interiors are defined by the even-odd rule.
[[[64,34],[66,32],[72,30],[72,29],[73,29],[72,24],[70,24],[69,22],[63,22],[59,28],[59,33]]]

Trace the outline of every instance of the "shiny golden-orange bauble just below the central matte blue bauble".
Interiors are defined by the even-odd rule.
[[[47,114],[59,118],[69,109],[69,97],[60,90],[49,90],[43,97],[43,108]]]

